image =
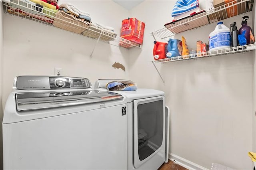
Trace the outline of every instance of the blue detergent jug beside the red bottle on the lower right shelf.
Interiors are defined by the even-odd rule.
[[[166,57],[170,58],[182,55],[182,41],[171,38],[167,38],[166,40],[168,41]]]

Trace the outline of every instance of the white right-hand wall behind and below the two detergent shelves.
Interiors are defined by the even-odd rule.
[[[251,169],[252,84],[254,53],[240,53],[154,65],[151,32],[171,22],[175,1],[146,0],[130,13],[146,24],[141,53],[130,51],[130,79],[140,87],[163,90],[170,107],[170,154],[210,169],[213,162],[235,169]],[[255,4],[254,4],[255,6]],[[143,12],[142,12],[143,11]],[[252,14],[249,25],[252,26]],[[241,27],[242,16],[225,20]],[[189,49],[208,42],[216,23],[177,34]],[[159,40],[164,42],[165,40]],[[141,77],[144,79],[141,79]]]

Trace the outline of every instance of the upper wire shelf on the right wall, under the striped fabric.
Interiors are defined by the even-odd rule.
[[[164,28],[152,32],[151,34],[161,39],[171,37],[180,32],[250,12],[252,11],[253,3],[254,0],[234,0],[212,10],[165,24]]]

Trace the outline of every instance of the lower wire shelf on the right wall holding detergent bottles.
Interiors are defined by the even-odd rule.
[[[159,59],[159,60],[155,60],[155,61],[150,61],[150,63],[155,64],[155,63],[167,63],[167,62],[173,62],[173,61],[183,61],[183,60],[188,60],[188,59],[198,59],[198,58],[203,58],[203,57],[213,57],[213,56],[218,56],[218,55],[242,53],[242,52],[252,51],[255,49],[256,49],[256,43],[250,44],[250,45],[238,46],[238,47],[231,47],[231,48],[207,51],[207,52],[203,52],[203,53],[196,53],[196,54],[182,55],[182,56],[178,56],[178,57]]]

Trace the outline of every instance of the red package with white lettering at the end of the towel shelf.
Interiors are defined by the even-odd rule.
[[[122,20],[121,38],[142,45],[145,23],[136,18]]]

